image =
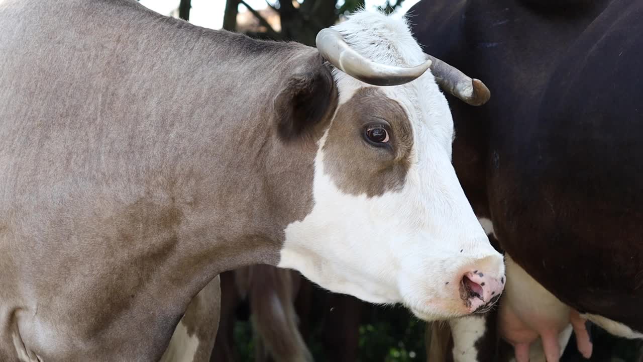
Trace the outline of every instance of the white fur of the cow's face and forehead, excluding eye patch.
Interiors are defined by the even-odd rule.
[[[359,12],[335,26],[369,59],[415,66],[424,53],[403,19]],[[340,105],[369,86],[334,71]],[[404,108],[413,128],[411,167],[395,192],[347,195],[325,173],[321,138],[314,161],[314,207],[285,230],[280,267],[294,268],[322,287],[374,303],[403,302],[422,319],[469,312],[458,285],[464,272],[500,278],[502,256],[476,220],[451,165],[453,120],[433,75],[380,88]],[[462,252],[460,252],[462,251]],[[449,284],[446,284],[449,282]]]

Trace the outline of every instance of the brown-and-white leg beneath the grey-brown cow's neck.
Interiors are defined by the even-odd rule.
[[[219,328],[221,279],[217,275],[192,298],[160,362],[208,362]]]

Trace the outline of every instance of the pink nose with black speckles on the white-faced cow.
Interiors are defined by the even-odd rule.
[[[462,276],[460,298],[471,313],[484,313],[493,307],[505,289],[505,276],[492,276],[483,271],[469,271]]]

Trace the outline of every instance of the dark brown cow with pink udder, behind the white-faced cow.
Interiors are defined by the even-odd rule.
[[[494,93],[482,108],[453,102],[453,160],[518,274],[572,309],[563,325],[583,333],[577,310],[613,334],[643,337],[643,2],[424,0],[409,14],[424,50],[484,77]],[[552,317],[543,293],[510,289],[501,311],[512,294],[541,307],[517,313],[522,327]],[[500,332],[518,347],[505,317]],[[479,334],[466,360],[493,358],[476,356],[483,332],[467,330]]]

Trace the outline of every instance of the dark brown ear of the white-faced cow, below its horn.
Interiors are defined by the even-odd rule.
[[[337,108],[331,69],[317,54],[291,75],[274,100],[276,127],[285,142],[317,137]]]

